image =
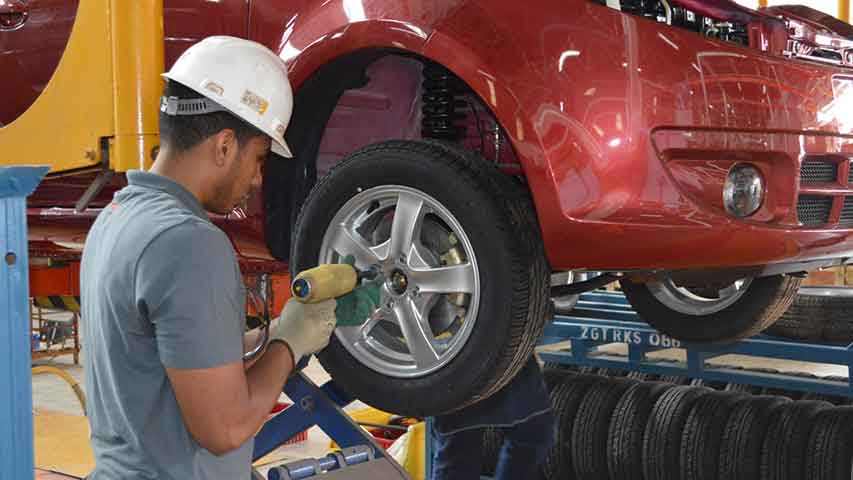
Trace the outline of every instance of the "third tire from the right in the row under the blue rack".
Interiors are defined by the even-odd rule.
[[[719,474],[726,480],[754,480],[761,474],[761,449],[773,411],[783,397],[751,397],[731,412],[720,442]]]

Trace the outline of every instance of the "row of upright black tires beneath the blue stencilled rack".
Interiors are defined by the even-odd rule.
[[[853,407],[761,395],[738,384],[546,369],[557,442],[548,480],[836,480],[851,478]],[[596,372],[598,373],[598,372]],[[486,446],[500,448],[490,431]],[[485,455],[494,462],[496,455]],[[494,463],[484,466],[493,472]]]

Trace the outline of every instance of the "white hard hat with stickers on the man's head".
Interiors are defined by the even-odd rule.
[[[272,138],[272,151],[293,155],[284,132],[293,113],[293,92],[284,62],[260,43],[236,37],[208,37],[185,51],[163,74],[205,98],[163,98],[167,115],[229,111]]]

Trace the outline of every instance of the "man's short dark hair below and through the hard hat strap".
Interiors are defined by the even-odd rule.
[[[195,90],[168,80],[164,95],[180,99],[201,98]],[[224,129],[234,130],[237,144],[244,146],[253,137],[265,134],[230,112],[202,115],[166,115],[160,112],[160,141],[175,153],[185,152]]]

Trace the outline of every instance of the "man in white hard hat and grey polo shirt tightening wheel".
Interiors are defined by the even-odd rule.
[[[327,345],[335,303],[288,302],[244,365],[245,290],[207,212],[244,202],[270,150],[291,156],[291,88],[274,53],[231,37],[164,77],[161,150],[128,172],[83,251],[89,479],[249,479],[253,436],[294,365]]]

